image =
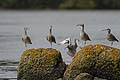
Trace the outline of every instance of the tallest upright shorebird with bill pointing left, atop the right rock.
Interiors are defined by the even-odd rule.
[[[81,32],[80,32],[80,38],[81,40],[85,41],[84,42],[84,46],[86,44],[86,41],[91,41],[91,39],[89,38],[88,34],[84,31],[84,24],[78,24],[76,26],[81,26]]]

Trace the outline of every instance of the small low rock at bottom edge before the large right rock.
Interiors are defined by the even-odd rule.
[[[94,77],[88,73],[80,73],[74,80],[94,80]]]

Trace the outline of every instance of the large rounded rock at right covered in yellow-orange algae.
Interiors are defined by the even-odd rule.
[[[74,80],[80,73],[120,80],[120,50],[101,44],[85,46],[67,67],[64,80]]]

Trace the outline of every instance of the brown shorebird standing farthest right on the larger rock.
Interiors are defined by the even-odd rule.
[[[111,46],[113,45],[113,42],[118,41],[118,39],[111,33],[111,29],[105,29],[105,30],[102,30],[102,31],[108,31],[107,33],[107,40],[111,42]]]

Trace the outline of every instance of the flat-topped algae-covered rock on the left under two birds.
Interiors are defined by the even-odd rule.
[[[59,51],[29,49],[21,56],[17,80],[57,80],[63,76],[65,67]]]

